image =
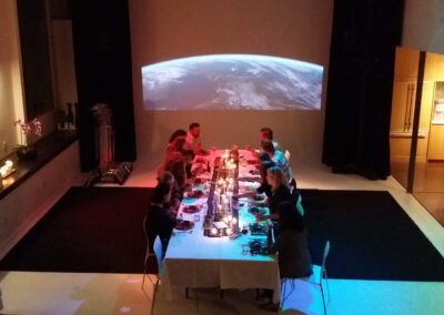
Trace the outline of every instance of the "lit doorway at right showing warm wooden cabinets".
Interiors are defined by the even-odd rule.
[[[444,55],[425,52],[414,172],[410,174],[418,50],[396,48],[390,129],[392,175],[444,226]],[[420,78],[421,80],[421,78]]]

